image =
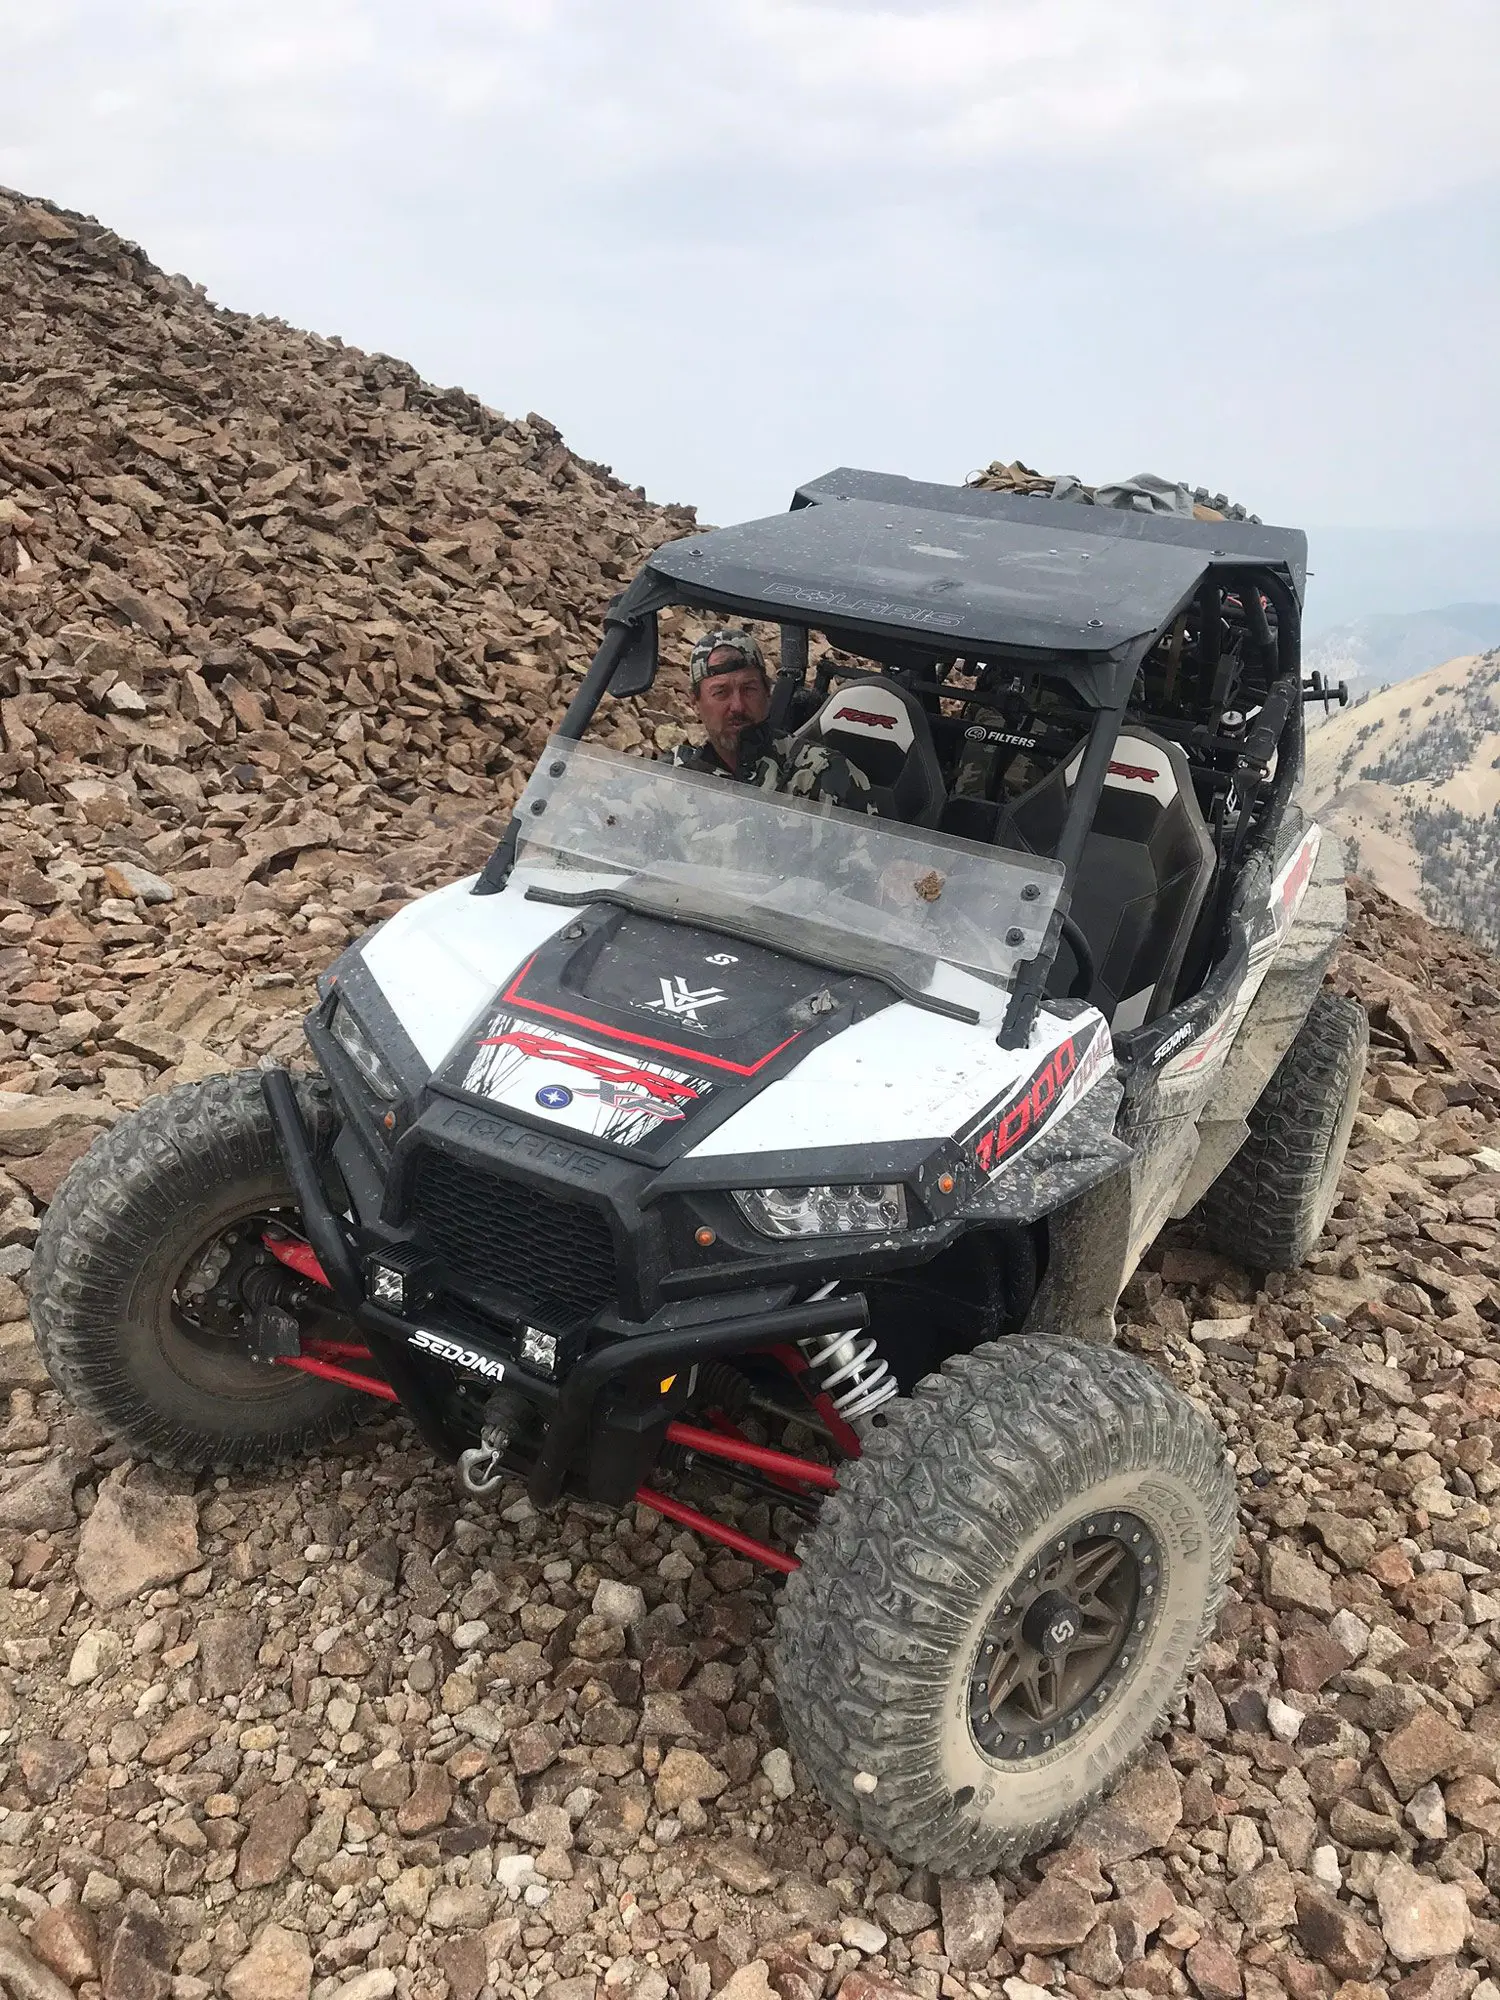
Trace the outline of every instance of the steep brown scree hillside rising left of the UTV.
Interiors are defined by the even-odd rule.
[[[46,1116],[264,1054],[352,930],[476,866],[692,510],[2,190],[0,298],[0,1106]],[[676,740],[662,686],[616,744]]]

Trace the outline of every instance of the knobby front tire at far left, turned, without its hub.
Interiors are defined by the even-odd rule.
[[[318,1158],[334,1138],[326,1086],[296,1084]],[[32,1326],[62,1394],[138,1458],[234,1470],[344,1436],[360,1398],[232,1342],[192,1336],[172,1294],[244,1216],[296,1198],[260,1074],[184,1084],[130,1112],[76,1162],[42,1218]]]

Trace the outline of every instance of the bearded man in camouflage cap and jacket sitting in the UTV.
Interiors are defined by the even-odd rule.
[[[762,792],[844,806],[848,812],[876,810],[870,780],[842,752],[772,734],[770,676],[752,632],[740,626],[704,632],[692,648],[688,678],[708,742],[678,744],[674,764],[736,778]]]

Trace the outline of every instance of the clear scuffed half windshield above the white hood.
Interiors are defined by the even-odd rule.
[[[646,906],[734,920],[842,958],[872,948],[924,988],[934,962],[1010,980],[1056,908],[1054,860],[760,792],[554,738],[516,806],[516,866],[606,878]]]

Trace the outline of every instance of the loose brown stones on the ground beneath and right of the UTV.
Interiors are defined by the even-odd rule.
[[[782,1742],[774,1582],[644,1508],[462,1498],[400,1418],[194,1488],[12,1348],[0,1990],[1496,2000],[1500,982],[1368,892],[1338,982],[1372,1068],[1310,1266],[1258,1288],[1188,1224],[1126,1294],[1242,1540],[1064,1850],[938,1882],[852,1842]]]

